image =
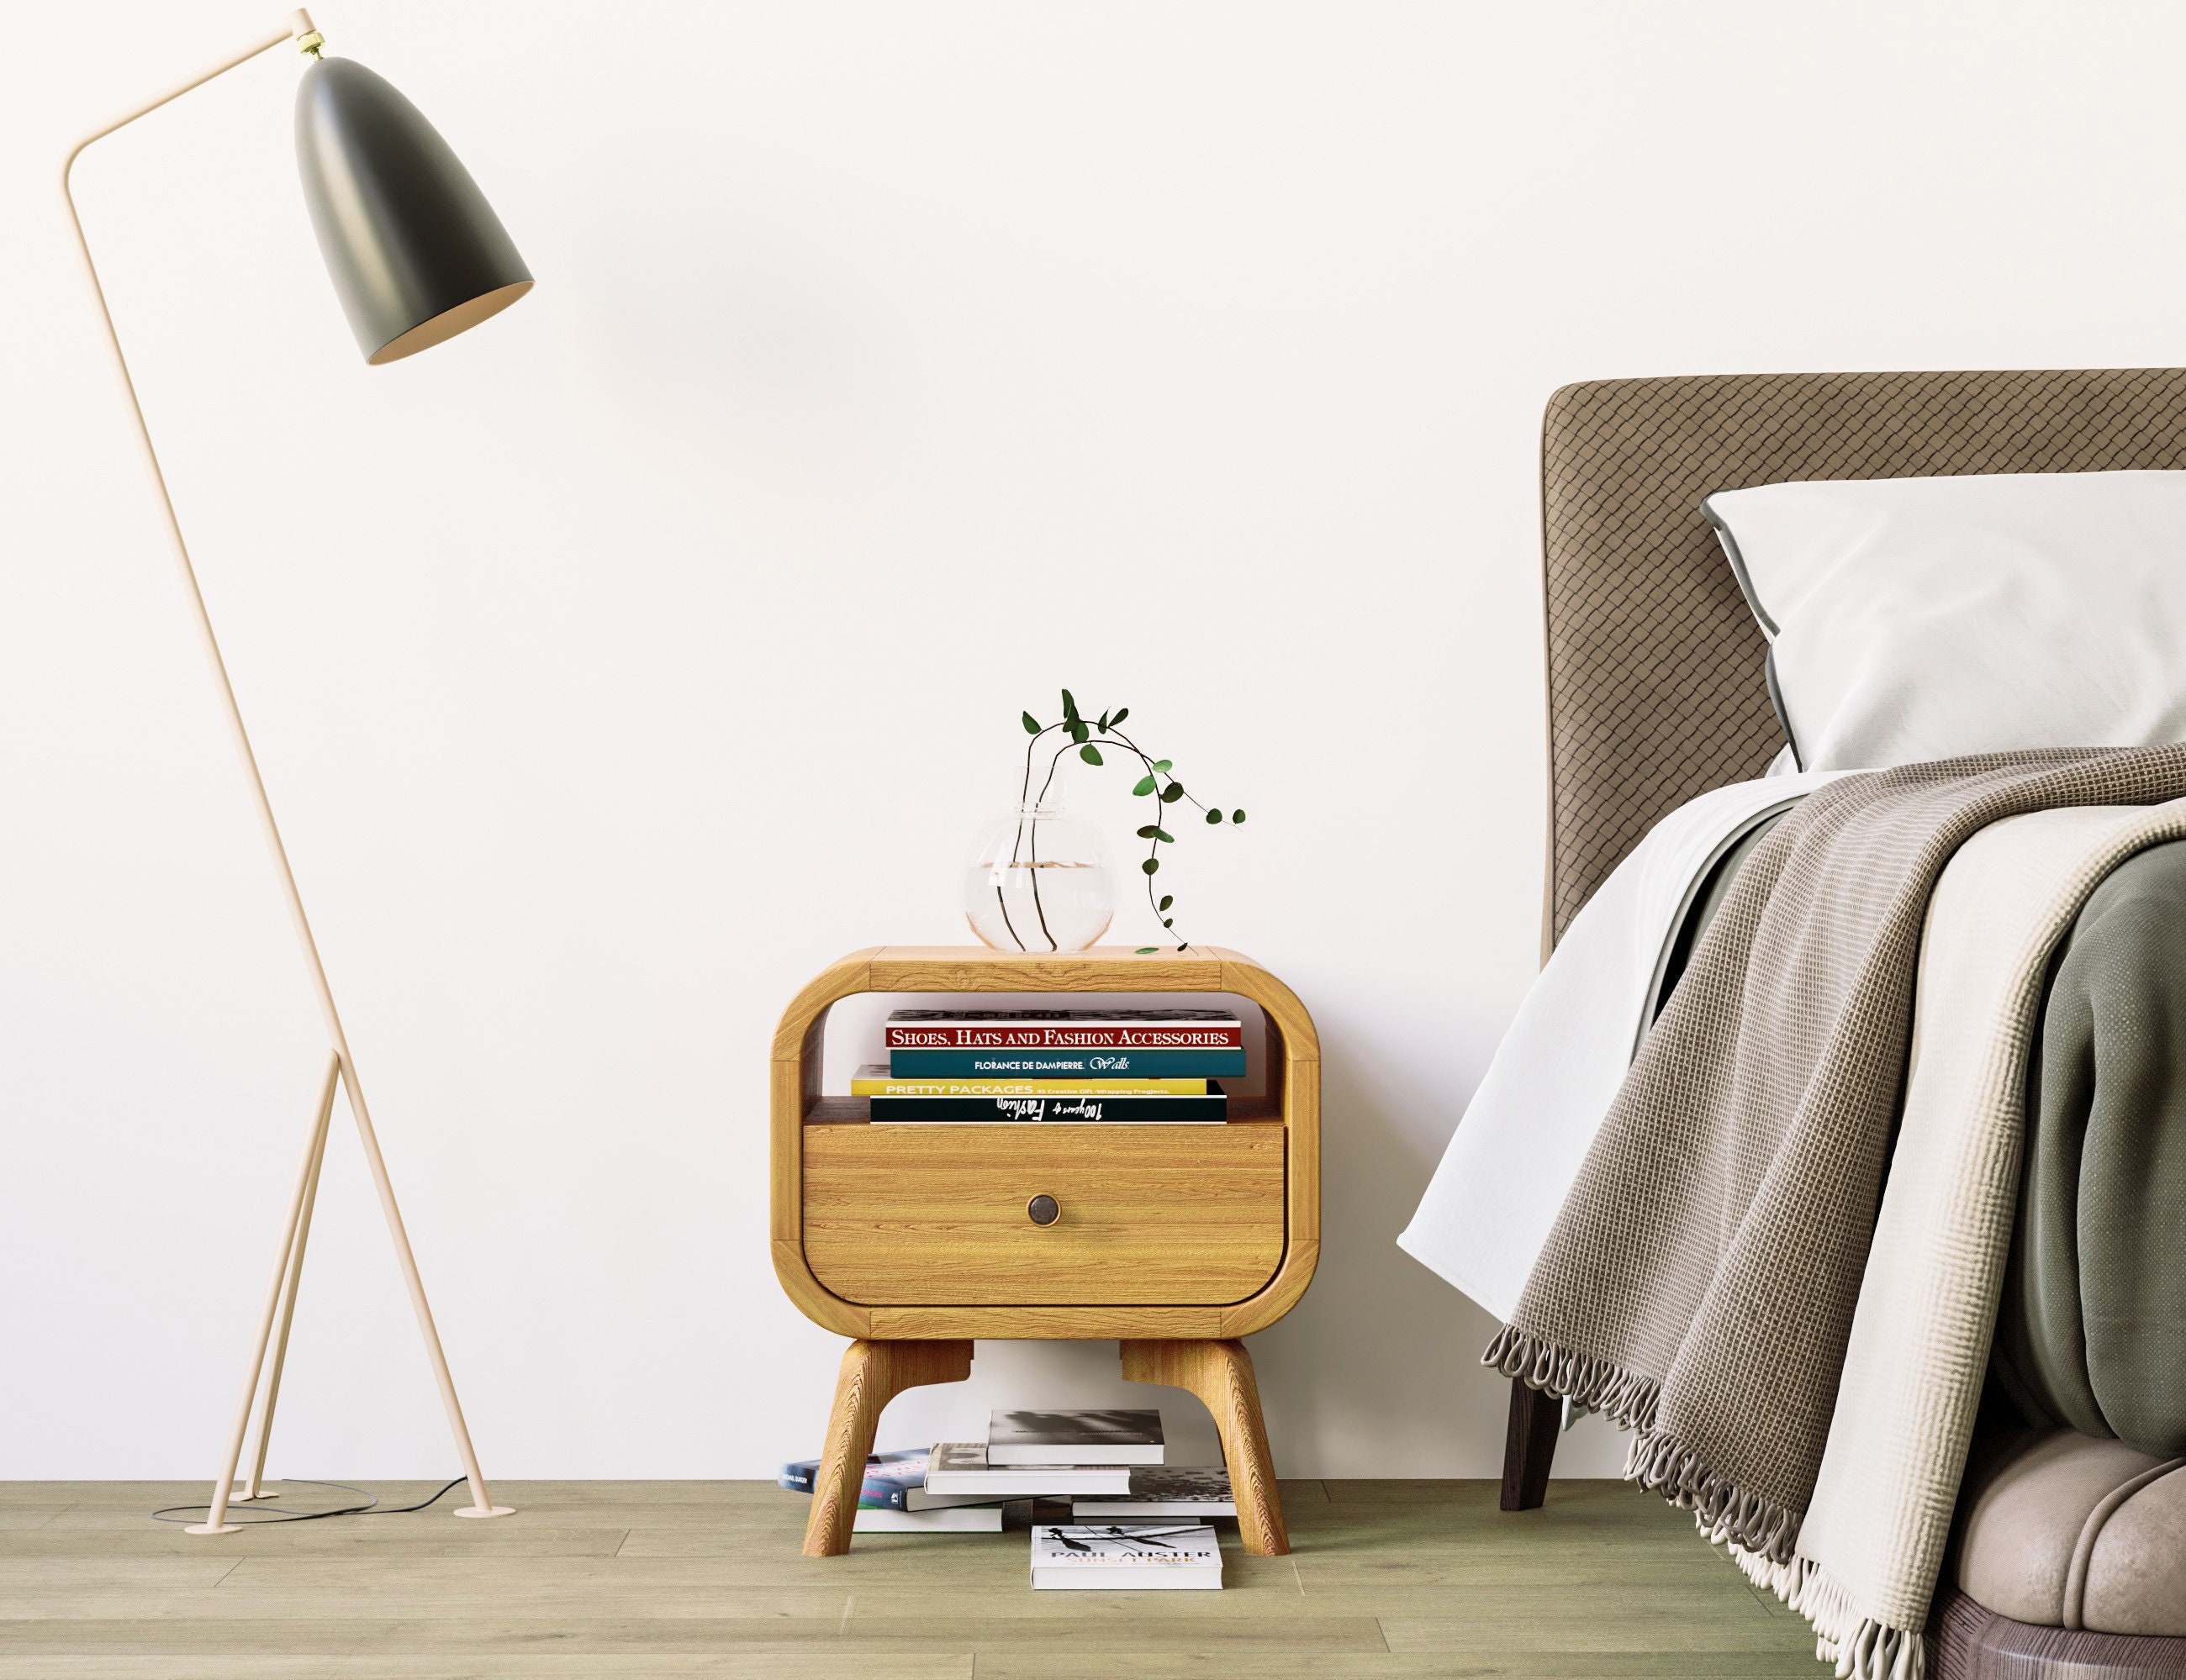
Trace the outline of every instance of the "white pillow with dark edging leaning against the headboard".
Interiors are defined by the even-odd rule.
[[[1718,489],[1801,769],[2186,741],[2186,472]]]

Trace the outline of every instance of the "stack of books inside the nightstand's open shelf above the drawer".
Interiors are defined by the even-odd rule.
[[[1244,1022],[1220,1009],[896,1009],[888,1064],[853,1097],[890,1123],[1200,1123],[1229,1119]]]

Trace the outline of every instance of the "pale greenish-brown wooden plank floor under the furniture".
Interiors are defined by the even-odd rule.
[[[431,1486],[387,1483],[389,1505]],[[1613,1481],[1285,1481],[1222,1593],[1032,1593],[1023,1529],[798,1555],[756,1481],[507,1481],[516,1516],[192,1538],[181,1483],[0,1483],[0,1680],[1814,1680],[1806,1625]]]

